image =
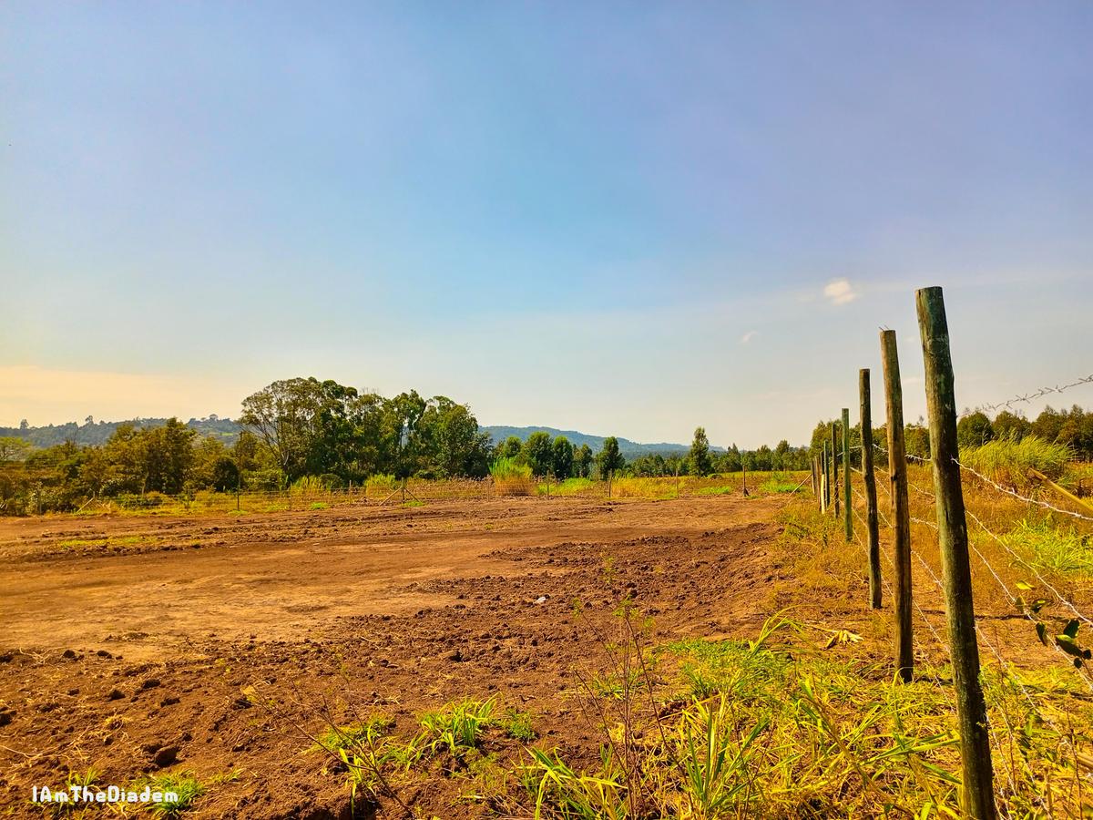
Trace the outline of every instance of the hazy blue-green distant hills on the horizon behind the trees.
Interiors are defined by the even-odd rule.
[[[92,421],[90,423],[84,422],[83,424],[70,421],[67,424],[49,424],[43,427],[0,427],[0,436],[11,435],[25,438],[35,447],[51,447],[55,444],[63,444],[64,442],[75,442],[84,446],[99,445],[105,444],[114,435],[114,431],[118,429],[119,424],[132,424],[136,427],[157,427],[165,424],[166,421],[166,419],[129,419],[128,421]],[[239,435],[239,431],[242,430],[238,422],[231,419],[220,419],[215,415],[210,415],[207,419],[190,419],[186,422],[186,426],[192,427],[200,435],[211,435],[220,438],[226,445],[234,444],[236,436]],[[603,440],[607,437],[602,435],[589,435],[576,430],[559,430],[557,427],[509,427],[496,424],[483,426],[480,430],[489,433],[493,437],[494,443],[503,442],[510,435],[515,435],[524,442],[532,433],[539,432],[549,433],[552,438],[557,435],[564,435],[574,446],[579,447],[581,444],[587,444],[596,453],[599,453],[603,448]],[[618,436],[615,437],[618,438]],[[619,438],[619,449],[623,456],[632,459],[651,453],[659,453],[663,456],[673,453],[685,454],[690,450],[690,445],[672,444],[670,442],[640,444],[632,442],[628,438]],[[724,447],[710,447],[710,449],[722,450]]]

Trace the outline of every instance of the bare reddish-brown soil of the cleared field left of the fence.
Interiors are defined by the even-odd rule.
[[[534,715],[546,747],[592,754],[596,728],[566,690],[602,653],[597,619],[630,594],[657,640],[754,633],[774,608],[783,503],[0,519],[0,807],[40,817],[33,784],[89,766],[128,783],[168,748],[165,771],[238,774],[189,817],[348,816],[344,782],[293,726],[318,730],[308,708],[324,701],[410,734],[423,710],[497,694]],[[251,705],[249,686],[304,706],[285,719]],[[496,816],[462,790],[437,771],[404,798],[423,817]]]

